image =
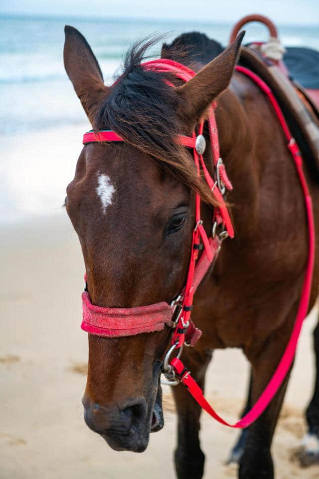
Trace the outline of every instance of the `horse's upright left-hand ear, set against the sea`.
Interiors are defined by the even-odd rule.
[[[94,126],[99,104],[108,96],[101,68],[84,36],[72,26],[64,28],[64,67],[85,113]]]

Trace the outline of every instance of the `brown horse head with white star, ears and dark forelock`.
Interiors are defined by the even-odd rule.
[[[135,46],[107,87],[85,38],[72,27],[65,33],[65,68],[93,129],[124,139],[85,145],[67,187],[89,297],[110,308],[170,303],[186,279],[195,192],[206,204],[208,234],[214,205],[176,137],[191,134],[227,88],[242,37],[175,88],[170,75],[141,67],[148,45]],[[142,452],[150,432],[163,426],[160,368],[170,338],[166,326],[126,337],[89,334],[85,421],[113,449]]]

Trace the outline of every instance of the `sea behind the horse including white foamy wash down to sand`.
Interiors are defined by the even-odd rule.
[[[61,212],[82,134],[90,128],[63,66],[65,24],[86,37],[106,84],[121,71],[125,53],[136,40],[155,34],[171,41],[195,30],[226,46],[232,28],[210,19],[0,16],[1,226]],[[284,45],[319,50],[318,26],[278,25],[278,29]],[[252,23],[245,42],[267,36],[264,26]],[[161,41],[151,57],[159,56]]]

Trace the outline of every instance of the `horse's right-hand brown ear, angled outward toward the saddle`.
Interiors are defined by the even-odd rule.
[[[193,128],[210,103],[229,85],[245,31],[216,58],[177,89],[182,101],[180,115]]]

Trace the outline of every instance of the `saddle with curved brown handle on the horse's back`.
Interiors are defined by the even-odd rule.
[[[235,36],[240,27],[247,23],[244,20],[242,19],[235,25],[231,36]],[[266,20],[271,23],[270,20]],[[263,20],[259,19],[259,21]],[[263,21],[263,23],[268,26],[266,21]],[[274,29],[274,31],[277,35],[277,30]],[[311,51],[315,52],[315,56],[317,54],[319,56],[319,53],[315,50]],[[288,59],[287,65],[290,64],[292,67],[291,71],[284,63],[284,52],[286,52]],[[271,88],[284,113],[289,129],[301,150],[305,163],[311,168],[312,174],[315,174],[319,181],[319,90],[316,89],[316,85],[314,88],[313,84],[309,84],[309,78],[308,84],[307,80],[305,81],[305,86],[308,88],[294,80],[294,76],[301,76],[301,72],[298,75],[298,67],[300,68],[303,51],[299,51],[299,65],[294,61],[292,53],[296,56],[296,51],[290,52],[289,49],[287,52],[281,46],[278,37],[271,32],[271,38],[268,42],[254,42],[241,47],[239,64],[252,70]],[[297,70],[297,75],[294,75],[293,70]],[[303,74],[305,76],[305,71],[303,71]]]

